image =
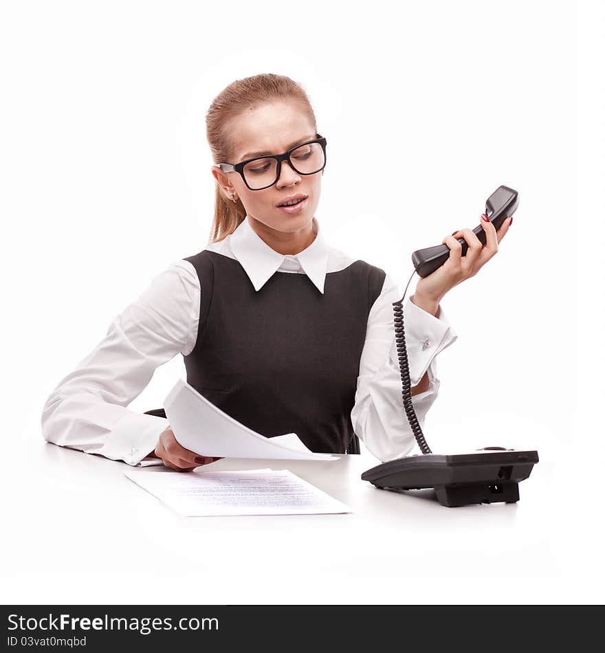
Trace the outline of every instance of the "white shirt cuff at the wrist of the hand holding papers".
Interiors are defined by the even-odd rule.
[[[114,461],[139,465],[155,449],[159,434],[168,424],[168,419],[164,417],[128,412],[115,423],[99,453]],[[149,458],[140,466],[162,464],[164,463],[159,458]]]

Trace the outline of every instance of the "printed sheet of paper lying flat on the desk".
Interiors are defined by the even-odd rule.
[[[287,469],[187,474],[132,469],[124,476],[186,517],[351,512]]]

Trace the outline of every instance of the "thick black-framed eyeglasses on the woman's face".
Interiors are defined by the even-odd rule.
[[[214,164],[223,173],[236,172],[250,190],[264,190],[276,183],[281,164],[287,161],[299,175],[315,175],[326,166],[326,139],[318,134],[315,140],[300,143],[283,154],[246,159],[239,164]]]

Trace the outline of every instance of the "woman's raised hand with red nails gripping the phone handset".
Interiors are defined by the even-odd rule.
[[[441,242],[450,248],[450,256],[441,267],[419,280],[416,285],[415,298],[424,298],[439,304],[445,293],[461,281],[475,276],[483,265],[498,252],[498,243],[506,235],[513,219],[507,217],[496,232],[494,225],[489,220],[486,221],[484,217],[487,217],[485,213],[481,216],[481,226],[486,236],[485,245],[481,244],[471,229],[461,229],[454,232],[452,236],[445,236]],[[462,256],[462,245],[454,236],[463,237],[467,242],[466,256]]]

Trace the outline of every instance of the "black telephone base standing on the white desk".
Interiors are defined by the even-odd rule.
[[[489,448],[470,454],[406,456],[368,469],[362,479],[399,493],[434,487],[437,500],[448,508],[515,503],[519,483],[531,474],[538,452]]]

